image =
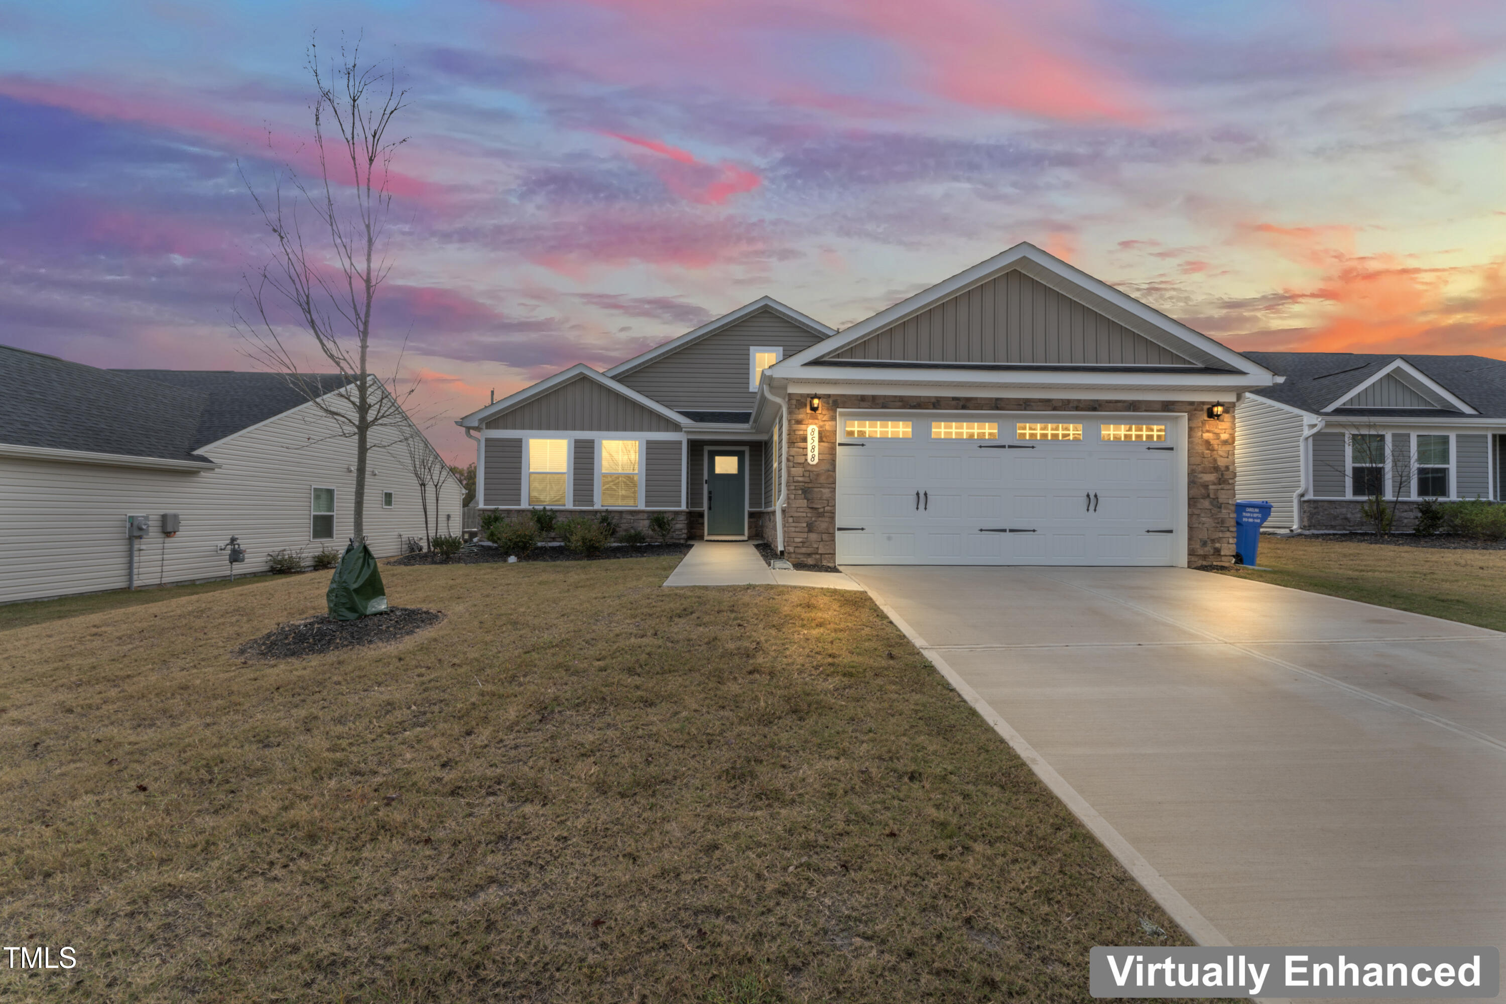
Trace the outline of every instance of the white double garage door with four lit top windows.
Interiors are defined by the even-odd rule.
[[[837,563],[1181,564],[1181,415],[837,415]]]

